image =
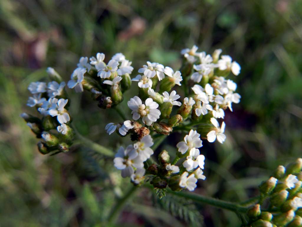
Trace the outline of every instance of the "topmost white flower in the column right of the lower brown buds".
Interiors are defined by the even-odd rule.
[[[193,148],[199,148],[202,146],[200,134],[197,131],[191,129],[189,134],[185,136],[184,141],[177,143],[178,151],[182,154],[186,153],[187,150]]]

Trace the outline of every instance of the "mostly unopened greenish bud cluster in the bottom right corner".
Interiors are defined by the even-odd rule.
[[[259,186],[259,203],[252,206],[246,226],[302,225],[302,159],[286,168],[278,166],[270,179]]]

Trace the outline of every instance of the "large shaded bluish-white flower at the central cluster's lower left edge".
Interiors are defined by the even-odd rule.
[[[138,156],[138,153],[133,149],[132,145],[127,146],[126,150],[124,147],[120,147],[114,158],[114,166],[117,169],[121,169],[122,177],[131,176],[134,173],[135,168],[143,168],[143,161]]]

